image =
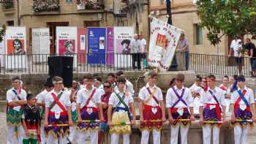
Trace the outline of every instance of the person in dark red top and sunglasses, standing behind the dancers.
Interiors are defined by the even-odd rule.
[[[103,144],[105,140],[105,133],[108,130],[108,100],[112,93],[112,84],[109,81],[103,83],[105,94],[102,95],[102,109],[105,123],[99,124],[99,144]]]

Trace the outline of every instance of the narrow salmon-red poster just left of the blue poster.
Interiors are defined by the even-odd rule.
[[[86,28],[78,28],[78,63],[86,63]]]

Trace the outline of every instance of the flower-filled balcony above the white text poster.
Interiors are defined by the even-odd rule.
[[[34,12],[59,12],[59,0],[33,0]]]

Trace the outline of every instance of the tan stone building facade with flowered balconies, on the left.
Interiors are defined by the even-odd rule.
[[[50,28],[50,53],[55,53],[56,26],[116,26],[114,0],[1,0],[0,9],[0,24],[26,26],[28,53],[32,28]]]

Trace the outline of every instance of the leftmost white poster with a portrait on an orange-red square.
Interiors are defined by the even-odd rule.
[[[5,33],[5,68],[26,69],[26,27],[8,26]]]

